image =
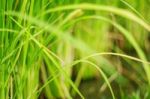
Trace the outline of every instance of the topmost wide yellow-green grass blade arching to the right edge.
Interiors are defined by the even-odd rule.
[[[42,13],[41,15],[45,15],[47,13],[52,13],[52,12],[57,12],[57,11],[65,11],[65,10],[71,10],[71,9],[83,9],[83,10],[96,10],[96,11],[106,11],[106,12],[112,12],[114,14],[120,15],[122,17],[125,17],[127,19],[130,19],[132,21],[137,22],[140,24],[142,27],[150,31],[150,26],[146,22],[144,22],[141,18],[137,17],[133,13],[120,9],[120,8],[115,8],[111,6],[104,6],[104,5],[96,5],[96,4],[74,4],[74,5],[65,5],[65,6],[60,6],[57,8],[49,9]]]

